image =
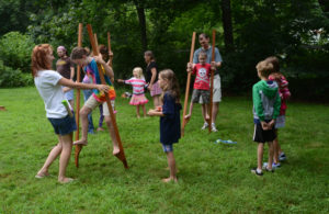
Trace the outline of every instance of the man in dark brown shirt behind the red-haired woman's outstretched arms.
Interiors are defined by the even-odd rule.
[[[59,72],[64,78],[73,81],[75,64],[71,61],[70,57],[67,56],[67,50],[66,50],[65,46],[57,47],[57,55],[59,57],[59,59],[56,61],[57,72]],[[65,98],[70,102],[70,105],[73,108],[75,91],[72,89],[69,91],[66,91]]]

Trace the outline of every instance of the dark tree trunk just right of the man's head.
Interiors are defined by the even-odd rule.
[[[222,0],[224,43],[226,52],[234,50],[234,35],[231,23],[230,0]]]

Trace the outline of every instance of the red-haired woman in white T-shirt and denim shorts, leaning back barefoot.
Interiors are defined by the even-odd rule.
[[[76,131],[75,117],[69,116],[68,110],[61,103],[66,100],[61,87],[76,89],[98,89],[107,91],[104,85],[84,85],[72,82],[64,78],[55,70],[52,70],[54,60],[53,48],[49,44],[36,45],[32,52],[32,76],[38,93],[45,103],[46,116],[52,123],[58,144],[49,153],[44,166],[36,173],[35,178],[49,176],[48,168],[60,155],[58,182],[67,183],[73,179],[66,177],[66,168],[72,149],[72,132]]]

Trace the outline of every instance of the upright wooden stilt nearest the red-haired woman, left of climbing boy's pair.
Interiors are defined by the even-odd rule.
[[[82,23],[79,23],[78,27],[78,47],[82,46]],[[80,77],[81,68],[80,66],[77,67],[77,81],[81,81]],[[76,140],[79,140],[79,121],[80,121],[80,89],[77,90],[77,98],[76,98],[77,109],[76,109],[76,122],[77,122],[77,132],[76,132]],[[75,153],[75,162],[76,167],[79,167],[79,154],[82,149],[82,145],[76,145],[76,153]]]

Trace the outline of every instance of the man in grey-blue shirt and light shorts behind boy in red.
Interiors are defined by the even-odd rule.
[[[206,63],[211,64],[212,63],[212,52],[213,52],[213,47],[209,44],[209,36],[205,33],[202,33],[198,35],[198,43],[201,45],[201,47],[198,49],[196,49],[194,52],[193,55],[193,64],[197,64],[198,63],[198,53],[201,50],[206,52],[207,54],[207,59]],[[215,74],[214,74],[214,90],[213,90],[213,116],[212,116],[212,131],[213,132],[217,132],[215,122],[216,122],[216,117],[218,114],[218,110],[219,110],[219,102],[222,101],[222,89],[220,89],[220,76],[219,76],[219,70],[218,68],[222,66],[222,56],[218,50],[217,47],[215,47]],[[203,103],[202,100],[200,100],[200,103]],[[203,127],[206,128],[207,126]]]

